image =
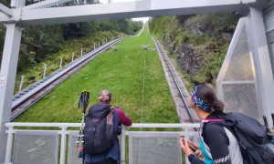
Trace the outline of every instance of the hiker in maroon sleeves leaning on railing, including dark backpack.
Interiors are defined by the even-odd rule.
[[[111,92],[102,90],[99,104],[93,105],[84,118],[84,161],[85,164],[117,164],[120,159],[119,126],[131,126],[121,108],[111,107]]]

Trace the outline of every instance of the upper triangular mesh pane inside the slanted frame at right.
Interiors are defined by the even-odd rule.
[[[254,80],[246,27],[243,26],[237,46],[227,67],[224,81]]]

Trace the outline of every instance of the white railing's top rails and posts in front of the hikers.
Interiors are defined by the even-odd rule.
[[[7,146],[5,152],[5,164],[11,164],[11,157],[12,157],[12,149],[13,149],[13,142],[14,142],[14,133],[16,133],[16,127],[37,127],[37,128],[60,128],[58,134],[61,136],[60,140],[60,153],[59,153],[59,163],[65,164],[66,161],[66,138],[68,135],[68,128],[79,128],[81,126],[80,123],[48,123],[48,122],[9,122],[5,123],[5,127],[8,128],[5,130],[7,133]],[[138,131],[128,131],[126,128],[184,128],[184,132],[181,133],[184,135],[193,135],[193,133],[189,133],[189,128],[199,128],[199,124],[195,123],[133,123],[131,127],[124,127],[121,128],[121,164],[125,163],[125,138],[130,134],[130,132],[137,133]],[[36,129],[30,129],[36,131]],[[41,129],[39,129],[41,130]],[[50,131],[50,130],[44,130]],[[163,132],[163,131],[161,131]],[[180,131],[178,131],[180,133]]]

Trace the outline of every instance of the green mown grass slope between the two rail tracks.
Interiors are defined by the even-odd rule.
[[[163,67],[156,51],[142,47],[153,47],[147,26],[141,36],[124,39],[102,53],[69,77],[61,85],[26,110],[16,122],[79,122],[79,95],[90,91],[90,106],[97,103],[100,90],[109,89],[113,106],[119,106],[134,123],[177,123],[174,101],[163,74]],[[142,106],[142,84],[144,92]]]

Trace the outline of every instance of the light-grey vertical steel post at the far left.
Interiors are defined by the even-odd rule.
[[[5,159],[6,138],[5,123],[10,121],[12,99],[15,89],[16,68],[22,29],[16,24],[6,26],[5,46],[0,71],[0,163]]]

